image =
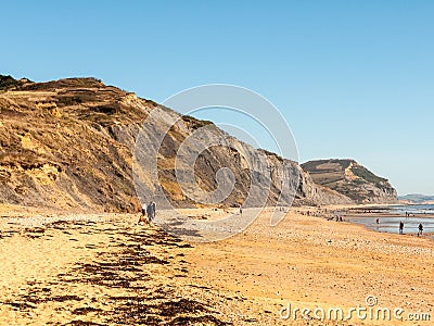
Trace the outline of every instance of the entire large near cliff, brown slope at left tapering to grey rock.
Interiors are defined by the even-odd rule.
[[[61,210],[137,212],[140,202],[132,177],[135,143],[138,135],[152,142],[162,131],[163,115],[161,123],[143,133],[143,122],[155,108],[157,104],[152,101],[94,78],[24,80],[0,90],[0,202]],[[282,195],[282,180],[295,192],[297,204],[350,201],[317,186],[297,163],[268,152],[259,155],[263,160],[254,163],[257,168],[252,170],[247,158],[255,161],[258,151],[248,145],[208,122],[180,116],[169,109],[164,112],[178,122],[158,148],[157,179],[143,171],[143,187],[149,193],[163,191],[175,206],[196,205],[177,183],[174,164],[180,145],[204,126],[209,127],[208,137],[224,139],[225,146],[209,147],[197,155],[194,178],[200,188],[192,185],[193,192],[216,190],[217,172],[228,167],[234,177],[233,189],[222,205],[243,203],[248,195],[251,205],[259,204],[264,199],[259,197],[266,190],[266,204],[279,199],[280,204],[290,204],[292,196],[285,191]],[[193,153],[196,149],[186,146],[183,150]],[[187,167],[184,171],[188,172]],[[253,190],[252,183],[257,186]]]

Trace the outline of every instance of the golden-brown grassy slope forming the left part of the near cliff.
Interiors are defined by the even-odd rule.
[[[137,211],[131,150],[110,134],[145,116],[143,108],[124,104],[129,97],[92,78],[1,92],[0,201]]]

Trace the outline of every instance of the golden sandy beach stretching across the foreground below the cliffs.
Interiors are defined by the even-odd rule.
[[[431,325],[421,321],[434,313],[430,237],[306,210],[290,209],[270,227],[267,209],[232,238],[188,243],[137,225],[133,214],[2,206],[1,324]],[[316,319],[321,310],[346,316],[358,306],[387,308],[391,319]],[[303,309],[316,315],[303,317]]]

